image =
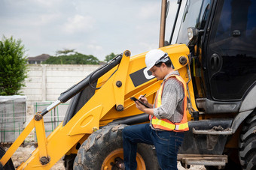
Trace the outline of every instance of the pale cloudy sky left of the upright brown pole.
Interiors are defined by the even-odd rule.
[[[22,40],[27,57],[75,49],[103,61],[158,48],[160,8],[160,0],[0,0],[0,35]]]

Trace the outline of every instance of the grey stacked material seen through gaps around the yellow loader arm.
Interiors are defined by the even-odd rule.
[[[34,103],[34,111],[41,112],[47,106],[50,106],[53,102],[38,102]],[[45,129],[45,135],[46,137],[50,135],[50,133],[53,132],[53,130],[59,126],[59,124],[63,121],[66,111],[69,107],[69,103],[61,103],[59,106],[56,106],[56,108],[52,109],[50,112],[48,112],[46,115],[44,115],[44,129]],[[36,139],[36,132],[35,132],[35,141]]]

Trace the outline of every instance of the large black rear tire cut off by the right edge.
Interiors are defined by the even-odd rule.
[[[239,160],[242,169],[256,169],[256,112],[243,124],[239,140]]]

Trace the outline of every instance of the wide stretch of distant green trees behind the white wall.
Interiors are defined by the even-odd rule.
[[[50,56],[43,64],[99,64],[99,59],[93,55],[75,52],[72,55]]]

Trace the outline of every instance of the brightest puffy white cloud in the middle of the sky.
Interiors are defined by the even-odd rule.
[[[63,25],[63,29],[69,34],[73,34],[75,32],[86,32],[93,30],[94,23],[95,19],[93,19],[93,17],[76,14],[75,16],[67,19],[67,22]]]

